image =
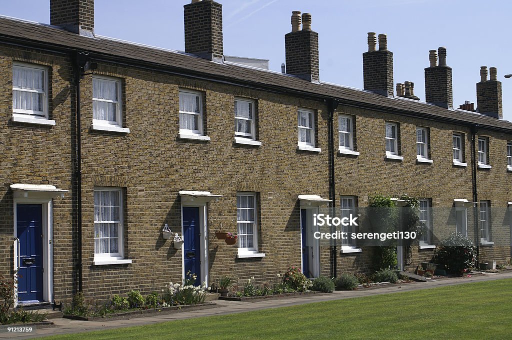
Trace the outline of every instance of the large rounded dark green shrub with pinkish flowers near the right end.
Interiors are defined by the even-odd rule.
[[[475,265],[476,247],[472,240],[462,234],[453,233],[441,241],[434,254],[434,262],[446,271],[462,275]]]

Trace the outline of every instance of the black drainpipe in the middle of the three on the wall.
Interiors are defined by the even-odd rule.
[[[329,199],[331,202],[331,216],[335,216],[336,212],[336,190],[335,190],[335,180],[334,180],[334,111],[338,107],[339,100],[338,99],[329,99],[327,106],[329,110],[329,120],[328,120],[328,129],[329,129]],[[335,227],[331,226],[331,233],[336,232]],[[337,273],[337,251],[336,251],[336,240],[331,240],[331,278],[336,277]]]

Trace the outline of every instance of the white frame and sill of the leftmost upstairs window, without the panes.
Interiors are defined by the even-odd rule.
[[[37,71],[43,72],[43,86],[44,90],[42,92],[34,89],[22,89],[22,88],[15,88],[14,87],[14,69],[32,69]],[[49,87],[49,80],[48,80],[48,67],[36,65],[36,64],[30,64],[30,63],[24,63],[24,62],[13,62],[12,64],[12,120],[14,122],[22,122],[22,123],[36,123],[36,124],[42,124],[42,125],[55,125],[55,121],[50,120],[48,117],[48,87]],[[42,111],[34,111],[34,110],[25,110],[25,109],[16,109],[14,108],[14,91],[20,91],[20,92],[30,92],[30,93],[38,93],[42,94]]]

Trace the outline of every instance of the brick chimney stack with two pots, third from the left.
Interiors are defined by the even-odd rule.
[[[302,24],[302,27],[301,27]],[[294,11],[291,32],[285,35],[286,73],[318,82],[318,33],[311,30],[311,14]]]

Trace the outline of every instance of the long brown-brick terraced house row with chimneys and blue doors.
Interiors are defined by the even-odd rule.
[[[368,36],[364,90],[323,83],[308,13],[293,12],[275,73],[223,55],[211,0],[184,6],[184,53],[95,36],[93,0],[50,3],[50,25],[0,17],[0,273],[19,274],[19,303],[154,291],[188,271],[208,284],[367,271],[371,250],[322,246],[312,216],[375,193],[421,197],[432,233],[400,267],[455,231],[510,260],[496,69],[481,70],[475,112],[453,107],[445,48],[425,58],[424,103],[410,82],[395,94],[383,34]]]

